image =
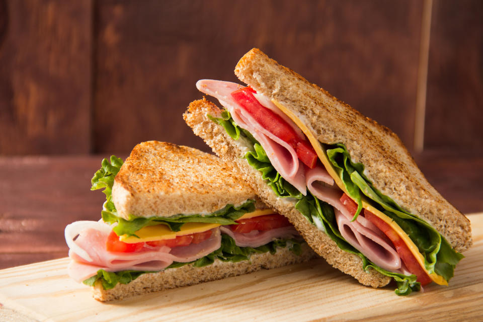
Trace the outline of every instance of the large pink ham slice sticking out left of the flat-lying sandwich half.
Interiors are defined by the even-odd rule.
[[[102,223],[101,223],[102,224]],[[75,225],[75,223],[71,224]],[[192,262],[204,257],[221,246],[221,234],[219,227],[213,228],[210,238],[199,244],[190,244],[176,248],[144,247],[134,253],[114,253],[106,250],[106,241],[109,233],[103,229],[88,228],[79,232],[73,240],[75,248],[69,250],[72,262],[69,265],[69,275],[76,281],[94,275],[99,269],[109,272],[123,270],[160,271],[170,266],[173,262]],[[72,240],[67,244],[71,244]],[[78,254],[78,249],[83,250],[89,256]],[[93,273],[94,272],[94,273]],[[86,277],[86,274],[91,274]]]

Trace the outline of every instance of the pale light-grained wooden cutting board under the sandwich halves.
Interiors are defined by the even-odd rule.
[[[70,280],[67,258],[0,271],[0,321],[483,320],[483,213],[449,287],[400,297],[323,260],[100,303]]]

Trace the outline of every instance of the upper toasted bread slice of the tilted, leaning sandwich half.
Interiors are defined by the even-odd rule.
[[[435,227],[458,252],[472,245],[469,220],[426,180],[399,137],[324,89],[310,84],[257,48],[235,67],[236,76],[280,102],[322,143],[343,143],[374,187]]]

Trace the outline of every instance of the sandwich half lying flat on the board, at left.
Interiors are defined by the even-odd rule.
[[[99,301],[307,261],[315,253],[215,155],[149,141],[92,179],[100,221],[65,228],[68,273]]]

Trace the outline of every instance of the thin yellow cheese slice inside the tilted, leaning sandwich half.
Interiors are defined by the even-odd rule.
[[[336,185],[341,188],[342,191],[344,191],[348,196],[349,194],[346,191],[346,188],[344,186],[344,183],[342,182],[341,178],[337,175],[337,172],[334,170],[334,167],[332,166],[332,163],[330,162],[329,158],[327,157],[327,153],[325,149],[322,148],[322,145],[320,142],[315,138],[315,136],[312,134],[312,132],[303,124],[303,122],[291,111],[289,111],[285,106],[277,102],[276,100],[272,100],[273,104],[275,104],[285,115],[287,115],[301,130],[302,132],[307,136],[310,144],[312,144],[315,153],[317,153],[318,158],[320,159],[320,162],[324,165],[326,168],[327,172],[329,175],[334,179]],[[418,247],[414,244],[413,240],[408,236],[406,232],[404,232],[401,227],[399,227],[398,224],[396,224],[391,218],[386,216],[384,213],[381,211],[377,210],[376,208],[372,207],[366,200],[362,201],[362,206],[372,212],[374,215],[377,217],[381,218],[384,220],[389,226],[391,226],[396,233],[401,237],[406,245],[408,246],[409,250],[411,253],[416,257],[418,260],[418,263],[421,265],[421,267],[428,273],[429,277],[437,284],[439,285],[448,285],[448,282],[440,275],[436,273],[429,274],[428,270],[424,266],[424,257],[423,255],[419,252]]]

